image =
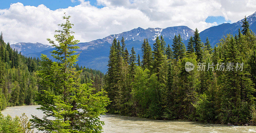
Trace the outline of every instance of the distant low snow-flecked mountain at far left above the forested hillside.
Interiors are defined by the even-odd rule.
[[[21,52],[23,55],[27,55],[29,53],[41,52],[44,50],[52,49],[53,47],[50,45],[44,45],[42,43],[15,43],[10,45],[12,49]]]

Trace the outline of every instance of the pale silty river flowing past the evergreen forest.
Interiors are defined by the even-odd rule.
[[[39,118],[43,117],[39,106],[14,106],[8,107],[2,114],[21,115],[25,113],[29,119],[31,114]],[[103,131],[105,133],[254,133],[256,126],[226,126],[222,124],[203,124],[190,121],[164,121],[150,120],[139,117],[127,117],[122,115],[106,114],[100,116],[105,121]]]

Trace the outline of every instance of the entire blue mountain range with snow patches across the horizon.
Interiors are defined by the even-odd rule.
[[[256,12],[247,17],[250,24],[250,29],[256,32]],[[205,42],[206,37],[209,38],[212,46],[218,43],[218,41],[227,34],[235,35],[238,33],[238,29],[241,29],[242,20],[236,23],[223,23],[218,26],[213,26],[200,32],[200,37],[202,42]],[[242,30],[242,29],[241,29]],[[190,36],[193,36],[194,30],[187,26],[176,26],[167,28],[147,28],[143,29],[141,27],[126,31],[120,34],[109,35],[102,39],[97,39],[91,42],[78,43],[80,47],[77,51],[80,52],[80,57],[78,58],[78,65],[89,67],[92,69],[97,69],[102,72],[107,71],[108,64],[108,54],[110,45],[114,38],[117,40],[124,37],[125,44],[130,52],[131,48],[134,47],[136,54],[141,55],[141,44],[145,38],[148,38],[148,42],[153,47],[156,36],[163,36],[166,44],[172,44],[172,38],[175,35],[180,34],[183,42],[187,45]],[[51,58],[50,51],[54,50],[52,46],[44,45],[41,43],[16,43],[11,45],[12,48],[17,49],[21,54],[30,57],[40,57],[41,53],[47,55]]]

